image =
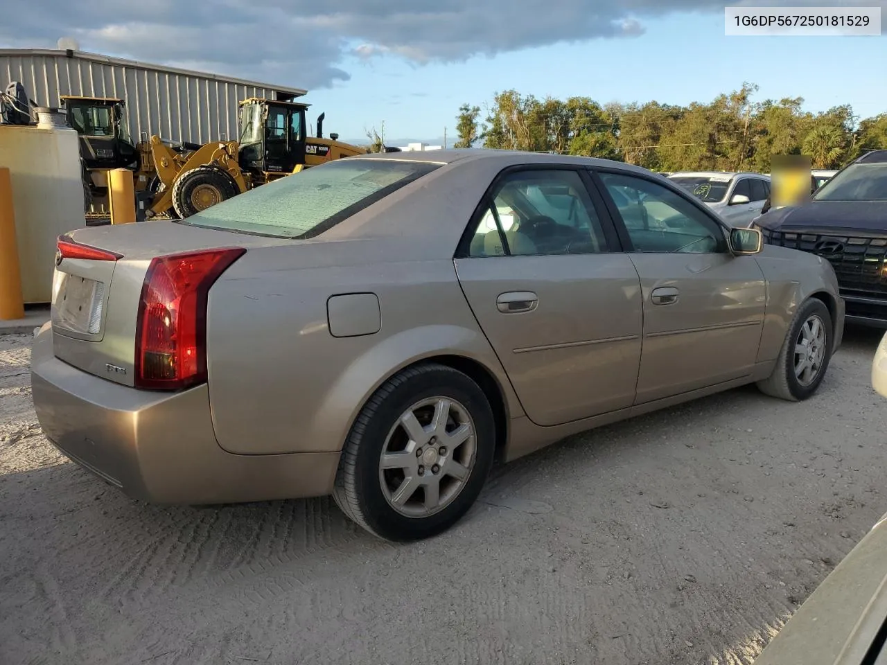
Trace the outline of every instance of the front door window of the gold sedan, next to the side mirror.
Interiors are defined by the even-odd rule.
[[[726,251],[717,222],[678,193],[645,178],[601,173],[636,252]]]

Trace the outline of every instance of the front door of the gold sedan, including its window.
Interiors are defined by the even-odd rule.
[[[634,190],[641,206],[655,206],[660,215],[648,228],[624,224],[620,230],[643,298],[636,403],[749,375],[766,296],[755,257],[730,254],[718,222],[671,188],[624,172],[599,175],[606,194]],[[614,200],[608,205],[620,222]],[[670,215],[663,218],[665,208]]]

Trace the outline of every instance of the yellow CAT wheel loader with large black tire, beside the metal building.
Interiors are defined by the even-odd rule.
[[[239,141],[169,145],[153,136],[140,143],[141,174],[153,193],[145,216],[167,215],[172,208],[184,218],[302,168],[367,152],[340,143],[338,134],[324,138],[324,113],[317,137],[309,137],[309,106],[248,98],[239,104]]]

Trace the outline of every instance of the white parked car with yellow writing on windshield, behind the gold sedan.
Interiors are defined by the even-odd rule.
[[[748,226],[770,196],[770,178],[759,173],[681,171],[669,179],[691,192],[731,226]]]

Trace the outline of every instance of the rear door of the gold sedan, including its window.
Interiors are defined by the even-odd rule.
[[[538,425],[634,402],[640,282],[613,251],[615,228],[586,182],[561,168],[499,176],[456,259],[467,301]]]

